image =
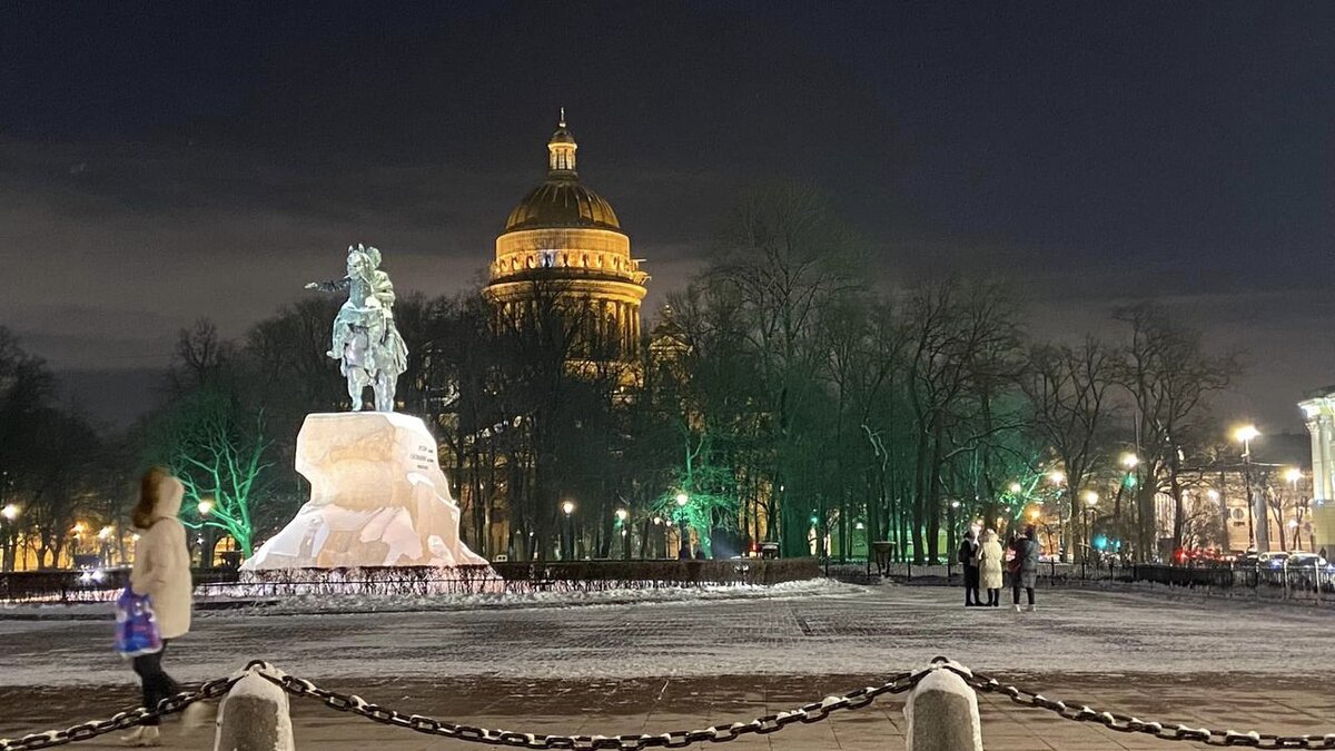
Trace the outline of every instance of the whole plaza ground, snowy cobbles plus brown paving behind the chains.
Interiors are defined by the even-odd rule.
[[[1043,589],[1039,611],[965,609],[960,589],[797,584],[605,604],[437,603],[415,612],[212,611],[171,649],[180,680],[264,659],[403,712],[550,734],[661,732],[750,720],[949,656],[1003,682],[1144,719],[1320,732],[1335,699],[1335,615],[1312,607]],[[430,601],[419,607],[433,607]],[[0,736],[109,716],[134,676],[99,608],[0,611]],[[27,698],[21,703],[20,696]],[[1189,748],[980,696],[987,748]],[[294,699],[299,747],[466,748]],[[17,712],[17,714],[16,714]],[[901,748],[902,696],[733,748]],[[175,735],[172,735],[175,734]],[[168,726],[172,747],[207,732]],[[706,744],[708,746],[708,744]],[[93,740],[87,747],[99,747]]]

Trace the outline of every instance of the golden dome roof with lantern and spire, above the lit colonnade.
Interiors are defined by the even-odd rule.
[[[621,231],[617,212],[605,198],[579,183],[575,172],[575,139],[561,123],[547,142],[547,182],[529,191],[505,223],[506,233],[547,227],[590,227]]]

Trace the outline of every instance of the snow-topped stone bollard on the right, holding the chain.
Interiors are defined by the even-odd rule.
[[[979,696],[963,678],[945,665],[968,672],[957,663],[933,663],[933,669],[909,692],[904,703],[904,734],[908,751],[983,751]]]

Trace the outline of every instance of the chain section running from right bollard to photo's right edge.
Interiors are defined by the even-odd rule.
[[[980,694],[1003,694],[1009,696],[1016,704],[1048,710],[1068,720],[1097,723],[1117,732],[1139,732],[1152,735],[1160,740],[1189,740],[1204,743],[1206,746],[1228,746],[1235,748],[1335,748],[1335,732],[1324,735],[1275,735],[1271,732],[1210,730],[1181,723],[1143,720],[1132,715],[1092,710],[1085,704],[1048,699],[1043,694],[1029,688],[1001,683],[980,672],[971,672],[951,664],[943,664],[941,657],[937,657],[936,664],[943,669],[959,675]]]

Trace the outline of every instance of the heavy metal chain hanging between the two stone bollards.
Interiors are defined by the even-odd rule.
[[[712,726],[704,730],[678,730],[661,734],[634,734],[634,735],[539,735],[533,732],[515,732],[507,730],[489,730],[467,724],[458,724],[422,715],[405,715],[394,710],[372,704],[360,696],[327,691],[314,683],[283,675],[262,667],[258,672],[270,682],[278,684],[292,696],[318,699],[326,706],[340,712],[352,712],[378,723],[403,727],[423,732],[467,740],[473,743],[486,743],[490,746],[509,746],[511,748],[574,748],[579,751],[609,748],[615,751],[635,751],[639,748],[686,748],[697,743],[722,743],[736,740],[744,735],[768,735],[778,732],[793,723],[818,723],[832,712],[841,710],[861,710],[877,696],[885,694],[902,694],[909,691],[922,678],[934,668],[920,672],[901,672],[881,686],[858,688],[842,696],[826,696],[820,702],[805,704],[796,710],[765,715],[750,722],[737,722],[726,726]]]

